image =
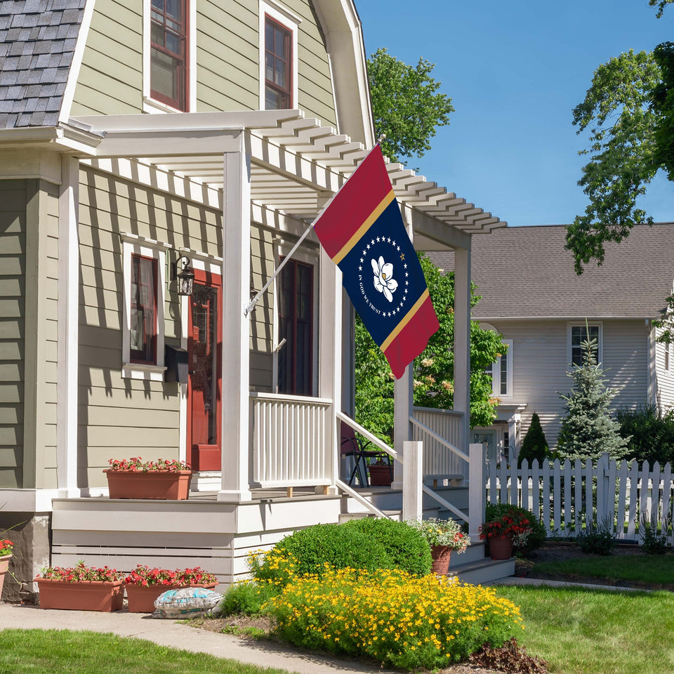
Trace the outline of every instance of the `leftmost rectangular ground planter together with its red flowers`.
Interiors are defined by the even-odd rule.
[[[109,567],[47,567],[35,579],[40,608],[119,611],[124,604],[124,574]]]

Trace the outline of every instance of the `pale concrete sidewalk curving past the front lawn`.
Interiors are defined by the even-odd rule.
[[[208,653],[260,667],[277,667],[299,674],[339,672],[340,674],[394,674],[357,660],[336,659],[327,655],[279,646],[272,642],[240,639],[181,625],[173,620],[154,619],[145,613],[114,611],[57,611],[17,604],[0,605],[0,630],[88,630],[109,632],[121,637],[136,637],[161,646]]]

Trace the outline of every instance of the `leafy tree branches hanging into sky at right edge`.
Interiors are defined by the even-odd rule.
[[[649,0],[662,15],[674,0]],[[674,180],[674,44],[652,53],[632,50],[600,65],[586,98],[574,108],[578,133],[589,129],[590,154],[579,185],[588,196],[583,216],[567,227],[576,273],[604,260],[604,243],[621,242],[635,223],[652,223],[637,198],[659,169]]]

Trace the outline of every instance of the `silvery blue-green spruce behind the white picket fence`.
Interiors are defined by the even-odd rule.
[[[569,395],[560,393],[566,401],[567,414],[562,417],[557,451],[571,461],[597,461],[604,451],[612,458],[623,458],[629,439],[620,436],[620,424],[609,412],[609,404],[618,391],[606,386],[604,369],[595,358],[597,340],[583,341],[582,348],[583,364],[574,365],[567,373],[574,380],[574,388]]]

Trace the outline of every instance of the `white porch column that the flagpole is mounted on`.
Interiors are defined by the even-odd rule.
[[[250,501],[249,319],[251,277],[251,156],[245,133],[225,152],[223,206],[223,431],[218,501]]]

